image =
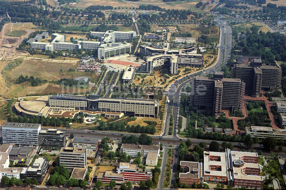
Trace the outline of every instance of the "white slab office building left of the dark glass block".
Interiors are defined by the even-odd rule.
[[[3,143],[17,145],[38,145],[41,124],[6,122],[2,127]]]

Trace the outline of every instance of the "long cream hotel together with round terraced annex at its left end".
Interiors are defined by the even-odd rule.
[[[43,100],[39,98],[34,101],[17,101],[15,109],[17,113],[27,117],[32,115],[47,117],[50,112],[59,111],[82,111],[89,117],[101,114],[108,118],[119,118],[125,114],[158,118],[159,100],[57,94],[49,95]]]

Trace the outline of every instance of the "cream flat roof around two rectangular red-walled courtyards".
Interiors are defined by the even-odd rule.
[[[209,153],[209,155],[207,155],[207,153]],[[218,156],[221,161],[211,161],[210,156]],[[221,171],[211,170],[210,165],[220,166]],[[224,152],[204,151],[204,175],[228,177],[227,160]]]

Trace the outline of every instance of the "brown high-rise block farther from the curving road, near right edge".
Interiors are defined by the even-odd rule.
[[[261,59],[252,59],[249,65],[234,64],[231,69],[231,77],[241,79],[246,84],[246,90],[253,96],[259,96],[262,88],[280,88],[281,76],[281,68],[262,65]]]

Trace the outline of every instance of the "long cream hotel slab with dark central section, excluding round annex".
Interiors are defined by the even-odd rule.
[[[51,109],[77,109],[88,111],[102,111],[124,113],[137,117],[158,117],[159,101],[132,98],[105,98],[98,95],[51,95],[49,97]],[[72,111],[72,110],[70,110]]]

